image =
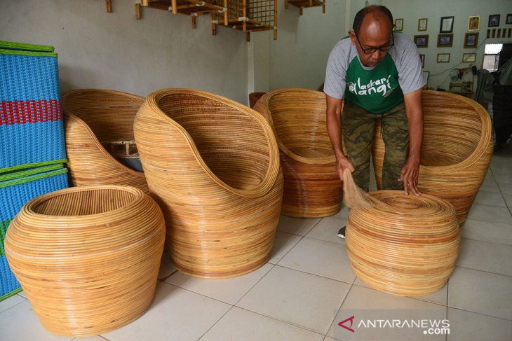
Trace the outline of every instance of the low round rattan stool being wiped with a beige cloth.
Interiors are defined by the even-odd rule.
[[[365,193],[344,172],[351,207],[346,250],[352,270],[385,293],[422,296],[445,286],[459,254],[459,224],[452,204],[399,190]]]

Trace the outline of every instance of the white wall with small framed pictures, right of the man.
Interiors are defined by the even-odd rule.
[[[470,67],[470,63],[462,63],[463,53],[477,53],[476,65],[482,68],[485,43],[512,43],[511,38],[486,39],[487,22],[489,15],[501,14],[499,27],[508,28],[505,25],[507,13],[512,13],[511,0],[384,0],[383,5],[388,7],[394,18],[404,19],[404,33],[412,39],[418,34],[429,34],[429,47],[419,48],[419,53],[425,55],[424,70],[430,71],[429,86],[448,90],[450,85],[450,70]],[[470,15],[480,15],[480,31],[478,32],[478,45],[480,48],[464,48],[464,34],[468,29]],[[453,46],[451,48],[438,48],[437,39],[440,29],[441,17],[454,16]],[[428,18],[426,32],[418,32],[418,19]],[[484,42],[485,41],[485,42]],[[450,53],[449,63],[438,63],[438,53]],[[471,81],[471,73],[465,74],[463,81]],[[474,81],[477,79],[475,77]],[[476,88],[476,84],[474,85]]]

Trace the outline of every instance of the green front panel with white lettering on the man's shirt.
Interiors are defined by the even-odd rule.
[[[398,84],[398,70],[387,54],[384,60],[370,70],[354,57],[346,69],[345,99],[371,113],[386,113],[403,102]]]

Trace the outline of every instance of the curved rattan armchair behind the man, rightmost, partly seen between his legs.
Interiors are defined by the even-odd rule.
[[[483,183],[492,157],[492,125],[480,104],[449,92],[424,91],[424,139],[418,188],[450,202],[460,224]],[[380,123],[372,150],[381,188],[384,143]]]

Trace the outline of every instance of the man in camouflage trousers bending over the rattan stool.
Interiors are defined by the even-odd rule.
[[[382,189],[403,188],[405,195],[421,195],[417,183],[423,139],[422,65],[415,44],[392,29],[388,8],[368,6],[356,14],[349,37],[332,49],[324,85],[327,129],[339,178],[348,168],[356,184],[368,191],[375,121],[382,120]],[[338,235],[344,238],[344,228]]]

